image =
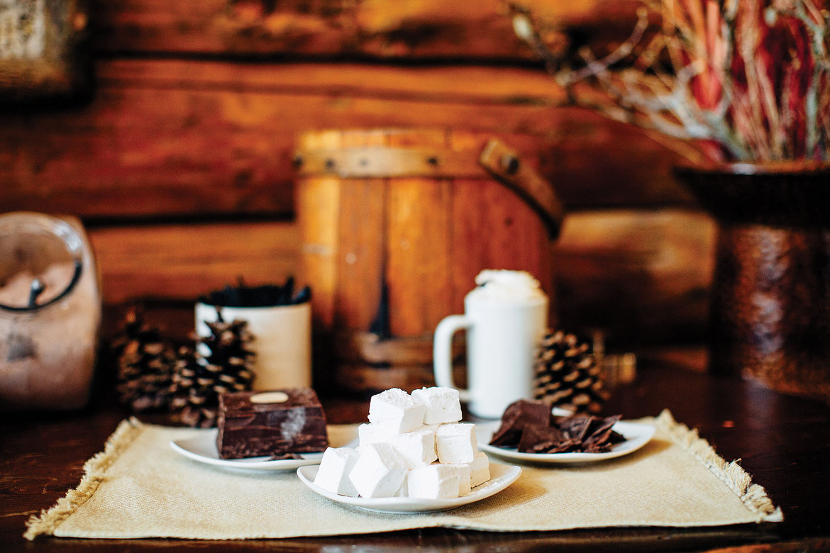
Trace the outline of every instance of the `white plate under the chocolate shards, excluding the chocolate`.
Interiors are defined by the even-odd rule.
[[[554,415],[569,415],[569,413],[567,411],[562,413],[559,412],[559,410],[554,410]],[[652,439],[652,436],[654,435],[654,426],[652,424],[620,420],[613,425],[612,429],[619,434],[623,434],[625,441],[614,445],[611,451],[601,454],[525,454],[516,451],[515,448],[498,448],[495,445],[489,444],[493,434],[497,429],[499,429],[500,424],[500,420],[476,424],[478,449],[486,451],[488,454],[496,455],[500,458],[506,458],[513,461],[530,461],[532,463],[594,463],[610,458],[622,457],[623,455],[631,454],[637,451],[637,449],[642,448],[642,446],[647,444],[648,440]]]

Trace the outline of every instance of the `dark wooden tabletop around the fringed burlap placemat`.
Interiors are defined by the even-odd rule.
[[[324,398],[332,423],[359,422],[365,399]],[[641,367],[637,380],[615,390],[608,409],[626,418],[668,408],[700,430],[724,458],[740,464],[784,511],[783,523],[715,528],[623,528],[558,532],[449,529],[367,536],[262,541],[80,540],[22,533],[32,514],[74,488],[87,458],[127,414],[112,406],[83,413],[8,415],[0,421],[0,551],[372,551],[420,547],[449,551],[830,551],[830,407],[780,395],[745,381],[676,366]],[[758,545],[761,544],[760,547]]]

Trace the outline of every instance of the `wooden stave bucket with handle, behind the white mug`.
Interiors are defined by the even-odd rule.
[[[530,272],[555,313],[551,240],[563,209],[505,143],[432,129],[315,131],[300,136],[295,161],[315,386],[434,386],[432,332],[463,313],[482,269]]]

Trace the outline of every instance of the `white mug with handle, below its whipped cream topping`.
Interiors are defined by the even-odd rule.
[[[548,298],[493,298],[474,289],[463,315],[442,319],[435,329],[433,362],[437,386],[456,388],[471,413],[499,418],[515,400],[533,395],[536,349],[547,327]],[[452,336],[466,329],[466,390],[452,378]]]

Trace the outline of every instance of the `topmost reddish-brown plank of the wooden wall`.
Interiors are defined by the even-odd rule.
[[[598,45],[631,32],[637,2],[527,0],[560,49],[592,37]],[[379,59],[533,59],[499,0],[130,0],[102,2],[95,45],[120,53],[234,56],[355,56]]]

